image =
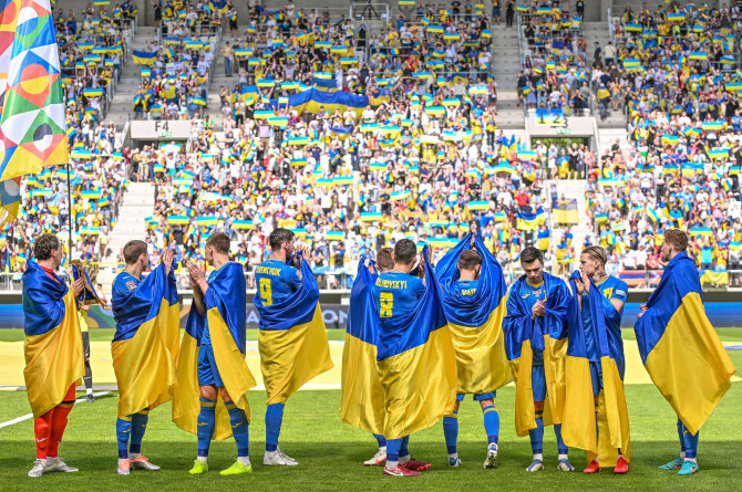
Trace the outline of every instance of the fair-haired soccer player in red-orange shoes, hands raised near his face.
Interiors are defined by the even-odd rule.
[[[575,279],[575,287],[577,290],[576,294],[580,302],[580,316],[583,322],[583,331],[585,337],[585,348],[587,357],[590,363],[590,378],[592,380],[592,397],[595,399],[595,411],[596,411],[596,422],[598,415],[598,402],[600,391],[604,390],[604,374],[600,364],[600,338],[602,334],[599,334],[597,331],[598,326],[592,326],[592,315],[595,308],[591,310],[589,304],[590,297],[590,285],[595,285],[601,294],[602,310],[605,322],[606,322],[606,333],[607,346],[605,347],[616,359],[617,364],[620,364],[618,367],[618,373],[624,378],[624,343],[621,341],[621,313],[624,312],[624,303],[628,294],[628,285],[626,282],[610,276],[606,273],[606,262],[608,257],[606,250],[598,245],[591,245],[586,248],[580,254],[580,268],[579,268],[579,278]],[[576,275],[575,275],[576,276]],[[617,386],[616,390],[624,391],[622,386]],[[626,397],[620,395],[620,399],[626,401]],[[628,435],[628,432],[627,432]],[[626,437],[628,441],[628,436]],[[583,470],[585,473],[597,473],[600,471],[600,462],[596,459],[591,460],[587,468]],[[629,471],[629,462],[621,452],[621,449],[618,449],[618,461],[614,468],[614,473],[622,474]]]

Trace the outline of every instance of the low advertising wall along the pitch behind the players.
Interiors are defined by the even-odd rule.
[[[181,293],[183,300],[181,307],[181,326],[185,323],[190,312],[190,292]],[[258,313],[250,302],[254,292],[248,292],[247,303],[247,327],[258,327]],[[631,292],[628,303],[624,310],[621,326],[629,328],[639,313],[639,306],[649,299],[649,291]],[[711,324],[718,327],[742,327],[742,292],[709,291],[704,293],[705,312]],[[348,320],[348,293],[324,292],[320,295],[322,316],[328,328],[344,329]],[[87,326],[92,328],[113,328],[115,326],[111,310],[101,306],[91,306],[87,311]],[[21,305],[20,292],[0,294],[0,329],[23,328],[23,306]]]

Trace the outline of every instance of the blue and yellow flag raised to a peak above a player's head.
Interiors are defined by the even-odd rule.
[[[452,289],[458,280],[460,254],[470,249],[473,234],[466,234],[435,266],[441,284],[443,307],[449,320],[456,354],[456,391],[483,394],[495,391],[513,380],[505,354],[505,317],[507,290],[503,269],[487,250],[482,237],[474,237],[474,249],[482,255],[482,271],[474,295],[463,296]]]

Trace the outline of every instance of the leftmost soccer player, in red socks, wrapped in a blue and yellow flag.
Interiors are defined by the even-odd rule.
[[[43,233],[33,243],[37,261],[29,261],[23,272],[23,376],[37,439],[37,460],[28,473],[32,478],[78,471],[58,452],[75,401],[75,383],[85,370],[75,301],[84,280],[74,281],[70,292],[55,273],[63,254],[59,239]]]

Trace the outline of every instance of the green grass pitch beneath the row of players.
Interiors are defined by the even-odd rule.
[[[722,332],[722,331],[720,331]],[[742,339],[739,329],[724,329],[722,336]],[[2,331],[0,331],[2,333]],[[628,335],[628,333],[627,333]],[[736,367],[742,350],[730,350]],[[361,463],[377,449],[372,436],[340,421],[339,390],[299,391],[286,406],[280,446],[299,461],[295,468],[268,468],[262,463],[265,446],[265,392],[250,391],[251,475],[224,478],[218,471],[235,458],[234,440],[212,444],[210,471],[204,477],[187,473],[196,454],[196,437],[176,428],[171,421],[169,405],[152,411],[144,437],[143,452],[159,472],[116,474],[115,419],[117,395],[99,398],[94,404],[79,404],[70,415],[60,456],[80,468],[79,473],[53,473],[40,479],[27,478],[34,458],[32,420],[0,429],[0,490],[740,490],[742,456],[742,384],[734,383],[720,406],[701,429],[699,463],[694,477],[678,477],[657,467],[678,452],[676,417],[670,406],[651,385],[629,385],[627,399],[631,418],[631,470],[615,477],[605,470],[599,475],[561,473],[556,470],[556,443],[552,428],[545,432],[546,469],[525,472],[530,462],[527,438],[515,436],[513,406],[515,390],[497,391],[501,415],[501,457],[496,470],[483,470],[486,438],[478,404],[467,398],[460,410],[458,452],[463,464],[449,469],[442,425],[414,435],[412,454],[433,463],[420,478],[398,479],[382,475],[381,468]],[[0,391],[0,422],[29,412],[24,392]],[[585,456],[570,451],[578,469]]]

